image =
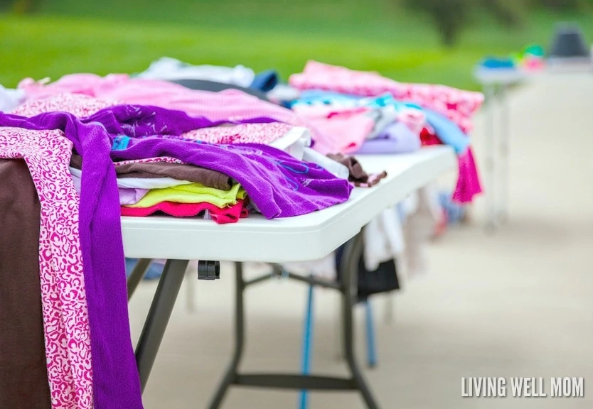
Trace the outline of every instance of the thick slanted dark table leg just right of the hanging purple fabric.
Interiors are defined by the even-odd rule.
[[[159,285],[156,287],[156,293],[136,347],[136,363],[142,391],[146,387],[154,359],[159,352],[181,283],[186,275],[188,262],[187,260],[167,260]]]

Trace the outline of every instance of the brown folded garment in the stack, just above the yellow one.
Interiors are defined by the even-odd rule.
[[[70,166],[82,169],[82,157],[73,154]],[[233,180],[217,170],[200,168],[195,165],[168,162],[127,163],[115,166],[117,178],[173,178],[200,183],[206,187],[230,190]]]

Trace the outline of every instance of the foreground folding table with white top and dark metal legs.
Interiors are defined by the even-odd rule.
[[[267,220],[252,216],[241,219],[236,224],[222,225],[203,219],[122,217],[126,256],[167,260],[136,349],[143,391],[181,288],[188,261],[199,260],[198,277],[210,280],[220,277],[220,261],[235,261],[235,350],[209,408],[220,407],[225,392],[231,385],[360,391],[368,408],[378,408],[353,354],[353,288],[356,288],[358,258],[363,246],[362,234],[359,233],[383,209],[395,205],[410,193],[454,168],[457,160],[452,149],[446,146],[424,148],[407,155],[360,156],[359,160],[368,172],[386,170],[388,177],[374,187],[355,188],[346,203],[299,217]],[[297,373],[241,373],[238,366],[245,344],[243,293],[247,286],[269,278],[266,275],[245,280],[242,263],[259,261],[279,266],[279,263],[316,260],[327,256],[347,241],[339,283],[295,275],[290,277],[334,288],[341,293],[344,354],[351,378]],[[147,266],[146,261],[141,263]],[[137,283],[141,278],[141,268],[135,270],[137,271],[132,273],[131,279]],[[279,268],[276,271],[279,273]]]

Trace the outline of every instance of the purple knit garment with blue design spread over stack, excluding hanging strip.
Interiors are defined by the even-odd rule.
[[[269,219],[337,205],[348,200],[352,189],[346,180],[336,178],[321,166],[301,162],[270,146],[218,145],[178,138],[183,132],[203,127],[207,121],[182,111],[122,105],[102,109],[83,121],[105,126],[112,137],[114,160],[172,156],[229,175],[240,182]]]

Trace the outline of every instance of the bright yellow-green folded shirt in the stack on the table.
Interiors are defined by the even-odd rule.
[[[230,190],[220,190],[214,187],[205,187],[199,183],[178,185],[164,189],[151,189],[146,196],[135,205],[126,207],[151,207],[160,202],[175,203],[203,203],[208,202],[220,208],[235,205],[237,199],[245,199],[245,190],[238,183]]]

